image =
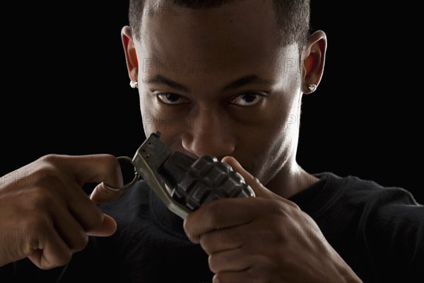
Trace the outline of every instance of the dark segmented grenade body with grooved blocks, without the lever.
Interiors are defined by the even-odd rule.
[[[208,202],[227,197],[254,197],[254,192],[239,173],[215,156],[201,156],[183,180],[174,188],[172,197],[194,211]]]

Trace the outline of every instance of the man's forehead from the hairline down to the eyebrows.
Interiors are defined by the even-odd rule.
[[[220,71],[226,76],[228,72],[276,70],[284,68],[285,62],[292,66],[297,62],[297,45],[278,47],[273,1],[230,1],[196,10],[170,2],[146,6],[141,40],[136,42],[145,73]]]

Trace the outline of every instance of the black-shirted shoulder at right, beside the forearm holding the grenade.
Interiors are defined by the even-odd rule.
[[[424,206],[408,190],[353,175],[316,175],[319,226],[364,278],[416,282],[423,277]]]

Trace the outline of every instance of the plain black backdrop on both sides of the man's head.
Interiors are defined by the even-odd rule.
[[[126,1],[26,2],[2,9],[0,175],[49,153],[133,156],[145,137],[120,39]],[[312,0],[312,29],[329,45],[304,98],[298,162],[424,203],[420,10],[337,3]]]

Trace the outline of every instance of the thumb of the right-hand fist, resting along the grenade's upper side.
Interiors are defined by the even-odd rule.
[[[261,184],[258,178],[254,177],[252,174],[247,172],[245,168],[243,168],[241,164],[234,157],[225,156],[222,159],[222,162],[227,163],[229,166],[231,166],[232,170],[240,173],[240,175],[242,175],[242,177],[245,178],[246,184],[252,187],[252,190],[254,191],[254,194],[257,197],[264,197],[267,199],[281,198],[280,196],[274,194],[273,192],[268,190],[266,187],[264,187],[264,185]]]

